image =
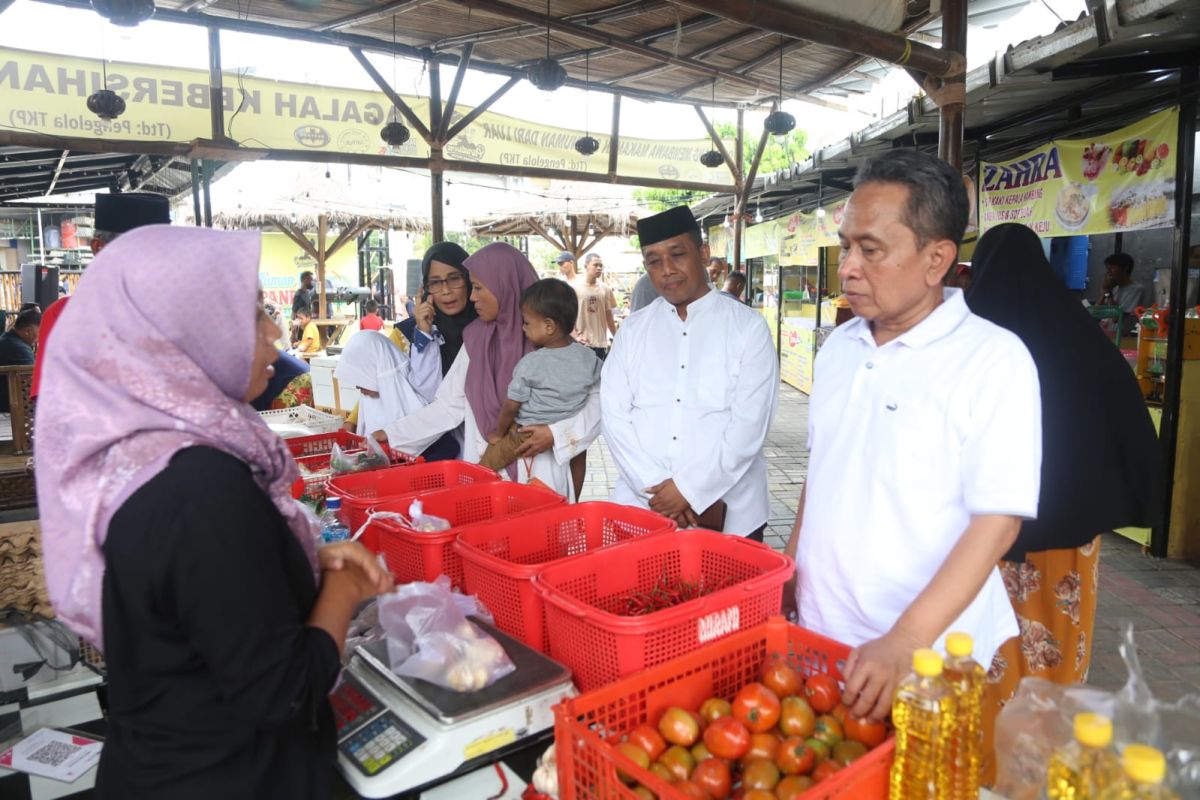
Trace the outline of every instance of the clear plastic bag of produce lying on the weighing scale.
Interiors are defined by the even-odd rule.
[[[392,672],[454,692],[491,686],[516,669],[499,642],[467,619],[490,615],[474,597],[451,591],[450,578],[409,583],[379,599]]]

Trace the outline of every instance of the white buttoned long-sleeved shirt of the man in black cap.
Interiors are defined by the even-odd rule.
[[[614,501],[648,507],[646,489],[670,477],[696,513],[725,500],[726,533],[767,522],[762,446],[779,404],[779,362],[760,314],[710,290],[682,320],[659,297],[625,320],[601,374]]]

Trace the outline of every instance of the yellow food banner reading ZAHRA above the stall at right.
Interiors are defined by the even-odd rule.
[[[1091,139],[1058,139],[979,166],[979,228],[1019,222],[1039,236],[1106,234],[1175,224],[1171,108]]]

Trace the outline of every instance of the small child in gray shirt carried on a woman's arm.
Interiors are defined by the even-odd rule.
[[[571,338],[578,299],[570,284],[538,281],[521,295],[522,330],[538,345],[517,362],[496,429],[487,434],[480,464],[500,470],[517,459],[529,437],[521,427],[551,425],[575,416],[600,380],[600,359]]]

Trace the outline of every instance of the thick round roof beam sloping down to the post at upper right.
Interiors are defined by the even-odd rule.
[[[785,5],[779,0],[680,0],[680,5],[762,30],[857,53],[925,74],[964,74],[966,59],[911,38],[888,34],[829,14]]]

